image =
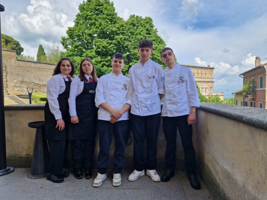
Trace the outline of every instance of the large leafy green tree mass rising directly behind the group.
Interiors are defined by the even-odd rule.
[[[125,57],[122,72],[127,76],[129,68],[139,60],[137,49],[141,39],[150,39],[154,43],[151,59],[161,63],[160,51],[165,42],[157,34],[150,17],[131,15],[124,21],[115,12],[113,2],[87,0],[79,5],[74,23],[73,27],[68,27],[67,36],[61,37],[61,44],[66,49],[61,56],[74,62],[76,74],[84,57],[93,60],[99,77],[110,73],[111,57],[119,52]]]

